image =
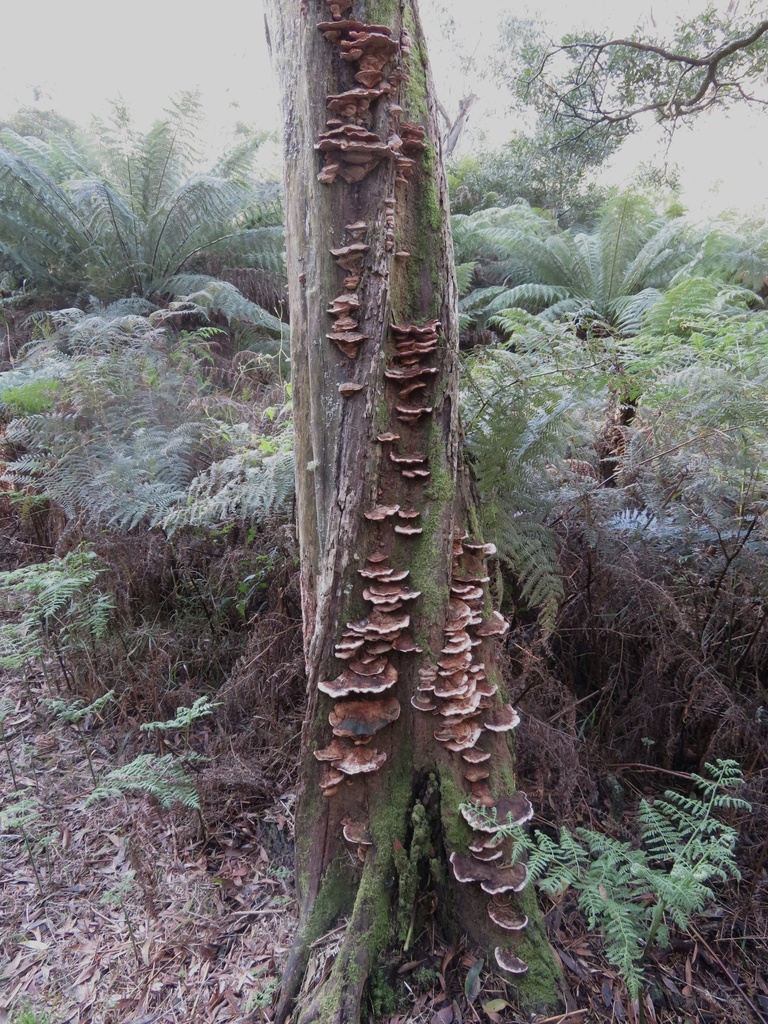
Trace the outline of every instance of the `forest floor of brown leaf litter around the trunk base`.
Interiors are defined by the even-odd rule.
[[[89,804],[83,740],[98,777],[136,753],[126,752],[125,729],[93,716],[79,734],[55,720],[42,677],[7,679],[3,695],[12,711],[2,724],[1,806],[28,803],[20,823],[6,817],[0,829],[0,1022],[270,1021],[296,923],[295,793],[283,788],[295,776],[275,773],[269,807],[225,801],[204,806],[203,819],[143,796]],[[215,731],[197,724],[199,752],[220,744]],[[144,750],[158,741],[141,740]],[[765,865],[726,895],[651,959],[648,1021],[767,1024]],[[468,984],[471,950],[424,936],[393,965],[400,1005],[378,1024],[634,1024],[637,1008],[574,904],[545,898],[543,909],[563,969],[562,1014],[522,1015],[514,988],[493,973]],[[337,937],[318,945],[332,955]]]

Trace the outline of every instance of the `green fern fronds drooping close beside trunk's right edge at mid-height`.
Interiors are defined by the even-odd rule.
[[[483,532],[517,580],[520,602],[554,628],[563,596],[558,540],[548,525],[558,494],[555,467],[584,443],[594,373],[559,327],[522,311],[504,321],[515,351],[484,350],[465,361],[462,413],[481,496]],[[549,375],[542,373],[552,360]]]

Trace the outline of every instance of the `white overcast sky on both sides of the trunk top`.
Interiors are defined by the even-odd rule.
[[[743,0],[745,2],[745,0]],[[536,13],[557,36],[598,27],[628,34],[651,17],[659,30],[675,16],[690,16],[702,0],[421,0],[438,95],[450,111],[469,91],[480,95],[472,110],[468,142],[482,137],[501,143],[514,126],[505,118],[498,86],[478,81],[496,43],[499,17]],[[453,40],[441,31],[445,15],[456,22]],[[200,88],[215,146],[233,124],[278,126],[274,88],[264,42],[259,0],[133,0],[118,8],[103,0],[37,0],[14,4],[3,14],[0,50],[0,118],[20,105],[53,109],[81,123],[104,115],[120,96],[147,126],[168,97]],[[463,70],[471,56],[474,66]],[[38,97],[38,98],[36,98]],[[765,213],[768,171],[768,113],[744,112],[699,118],[693,133],[681,132],[669,154],[682,168],[685,201],[710,215],[726,207]],[[618,162],[621,181],[653,156],[656,142],[635,139]]]

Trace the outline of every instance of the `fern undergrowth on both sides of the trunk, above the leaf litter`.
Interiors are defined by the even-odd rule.
[[[280,203],[247,181],[255,142],[191,174],[195,114],[186,97],[139,136],[117,110],[99,157],[82,139],[0,137],[0,198],[38,191],[0,223],[3,268],[30,278],[2,300],[0,667],[24,694],[0,697],[14,793],[2,830],[41,894],[59,839],[25,781],[32,756],[8,746],[25,700],[82,744],[89,807],[136,793],[181,805],[201,843],[296,783]],[[53,214],[66,229],[51,255]],[[591,894],[590,927],[636,996],[639,951],[687,926],[711,879],[740,871],[732,920],[768,927],[750,902],[768,849],[765,237],[694,230],[633,197],[591,233],[519,204],[457,217],[455,233],[466,456],[513,624],[506,685],[540,815],[522,845],[553,898]],[[94,748],[102,733],[119,739]],[[710,827],[695,796],[635,799],[666,772],[713,797],[734,762],[753,806],[737,821]],[[599,837],[573,830],[588,815]],[[722,856],[707,877],[691,856],[671,896],[659,865],[705,847]],[[612,896],[598,905],[599,885]],[[115,901],[130,922],[129,897]]]

